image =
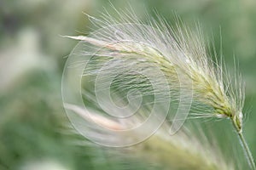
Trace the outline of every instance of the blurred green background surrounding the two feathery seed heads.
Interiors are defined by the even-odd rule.
[[[234,55],[246,82],[244,132],[256,157],[256,1],[133,0],[110,1],[131,8],[142,19],[154,10],[173,23],[200,20],[212,31],[219,50],[221,27],[226,65]],[[102,152],[71,144],[63,132],[67,117],[61,101],[61,74],[76,41],[60,35],[89,32],[82,13],[99,16],[107,0],[0,1],[0,169],[106,169],[96,164]],[[210,32],[210,31],[209,31]],[[211,37],[212,35],[207,35]],[[96,157],[102,156],[102,157]],[[107,161],[108,162],[108,161]],[[41,164],[40,164],[41,163]]]

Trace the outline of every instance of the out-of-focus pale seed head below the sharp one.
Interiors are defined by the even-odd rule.
[[[127,128],[120,122],[113,122],[113,120],[109,120],[106,117],[98,116],[94,111],[90,111],[88,114],[77,105],[65,105],[65,107],[75,111],[84,119],[97,122],[103,127],[113,130],[124,130]],[[133,126],[135,126],[139,122],[133,123]],[[130,150],[125,148],[122,150],[125,150],[126,156],[132,156],[138,160],[152,163],[152,166],[154,164],[159,165],[161,169],[229,170],[235,168],[234,162],[226,162],[227,160],[224,159],[218,147],[212,147],[204,133],[195,136],[191,135],[190,131],[182,129],[176,135],[169,136],[167,135],[168,127],[168,122],[165,122],[150,139],[133,146]],[[94,135],[99,137],[101,132],[97,132]],[[110,138],[109,136],[107,137]]]

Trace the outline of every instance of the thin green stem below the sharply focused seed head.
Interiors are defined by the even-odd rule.
[[[249,148],[249,146],[247,144],[247,141],[243,137],[243,134],[241,133],[241,129],[237,128],[236,122],[234,122],[234,121],[232,121],[232,122],[233,122],[234,127],[236,127],[236,132],[237,132],[238,137],[240,139],[241,147],[244,150],[244,153],[246,155],[247,162],[250,165],[252,170],[256,170],[255,163],[253,161],[253,155],[252,155],[252,152],[251,152],[251,150],[250,150],[250,148]]]

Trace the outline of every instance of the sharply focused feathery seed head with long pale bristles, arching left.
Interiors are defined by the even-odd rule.
[[[236,82],[237,89],[234,89],[230,87],[233,82],[225,82],[225,68],[218,62],[214,64],[209,58],[200,26],[196,32],[190,31],[181,21],[177,22],[176,29],[167,26],[163,20],[159,23],[150,20],[145,26],[132,14],[119,16],[119,19],[113,19],[108,14],[102,20],[90,18],[102,29],[100,33],[96,32],[91,37],[70,38],[104,48],[102,56],[108,56],[105,59],[117,64],[108,65],[108,70],[104,71],[125,70],[124,65],[129,65],[126,71],[149,70],[150,65],[157,65],[170,82],[171,94],[177,88],[191,89],[194,100],[212,107],[212,116],[229,117],[241,131],[244,96],[241,83]],[[117,61],[122,63],[121,67]],[[180,80],[177,71],[184,74],[187,80]],[[86,74],[93,73],[87,71]],[[138,77],[135,75],[133,78]],[[200,114],[204,117],[204,113]]]

